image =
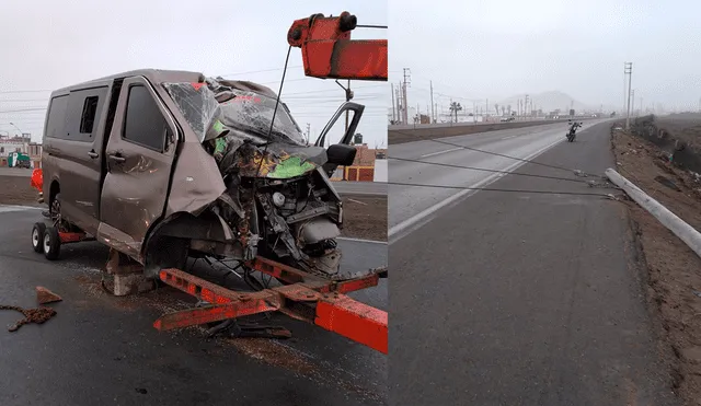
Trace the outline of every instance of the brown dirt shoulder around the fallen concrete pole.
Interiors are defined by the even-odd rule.
[[[642,138],[616,131],[611,142],[621,175],[701,229],[701,182],[694,175],[673,166]],[[686,405],[701,405],[701,258],[635,202],[628,206],[647,269],[650,304],[659,315],[663,343],[671,346],[675,390]]]

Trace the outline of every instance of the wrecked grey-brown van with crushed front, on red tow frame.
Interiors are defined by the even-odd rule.
[[[55,227],[139,262],[149,277],[187,257],[257,255],[332,280],[342,199],[364,106],[346,102],[309,144],[275,92],[202,73],[139,70],[51,94],[43,193]],[[353,113],[337,143],[329,130]]]

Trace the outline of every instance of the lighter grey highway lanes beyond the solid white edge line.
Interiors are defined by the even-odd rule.
[[[601,120],[585,123],[578,131],[584,131]],[[566,124],[550,124],[527,128],[474,134],[438,139],[452,144],[476,148],[490,152],[528,159],[541,153],[558,142],[565,140]],[[469,165],[489,170],[506,171],[520,162],[503,156],[461,149],[436,141],[416,141],[389,148],[390,183],[424,185],[446,185],[479,187],[498,177],[482,171],[459,170],[426,163],[398,161],[393,158],[421,160],[451,165]],[[389,236],[390,241],[411,232],[415,227],[428,221],[433,212],[451,202],[450,199],[464,197],[469,192],[389,185]]]

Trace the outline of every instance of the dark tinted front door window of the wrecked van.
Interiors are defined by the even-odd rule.
[[[168,124],[148,89],[129,86],[122,137],[128,141],[163,152]]]

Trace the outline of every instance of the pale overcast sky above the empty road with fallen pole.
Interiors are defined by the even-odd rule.
[[[445,106],[562,91],[621,108],[625,61],[636,104],[699,108],[698,1],[390,0],[389,10],[390,81],[411,68],[409,105],[423,111],[432,79]]]

